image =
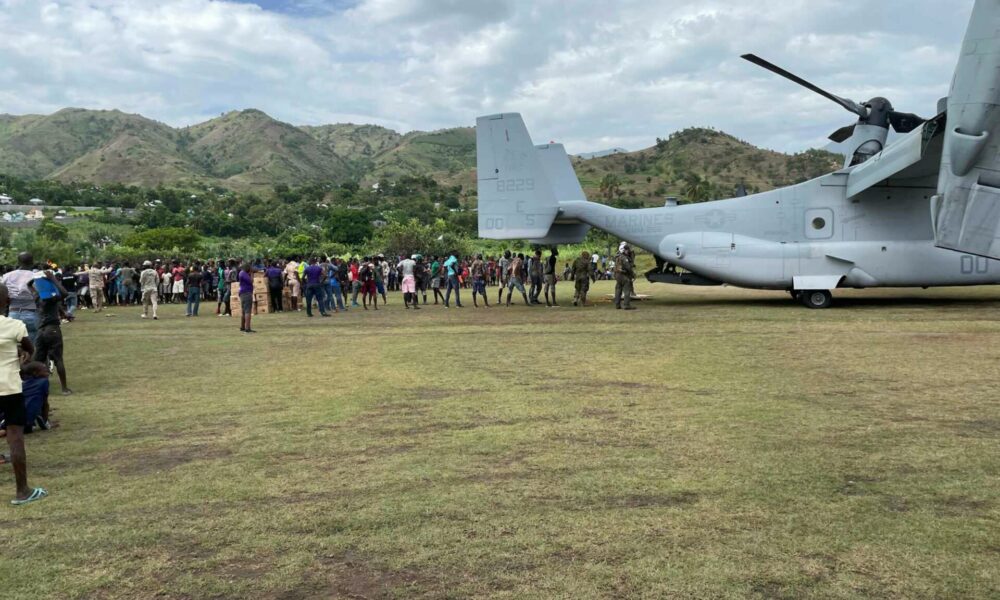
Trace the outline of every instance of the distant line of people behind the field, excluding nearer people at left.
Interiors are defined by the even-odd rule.
[[[363,308],[378,310],[387,302],[386,292],[402,291],[406,308],[420,308],[429,303],[447,308],[463,307],[462,290],[471,290],[473,304],[490,306],[486,288],[497,287],[497,303],[509,305],[516,291],[527,305],[559,306],[558,281],[597,281],[618,277],[623,264],[618,256],[601,259],[597,254],[570,265],[565,263],[560,278],[558,251],[547,257],[541,250],[533,254],[504,252],[498,256],[459,257],[398,256],[383,254],[342,259],[337,257],[301,257],[288,259],[259,258],[253,261],[148,260],[133,266],[128,261],[67,266],[54,273],[65,287],[66,314],[72,319],[76,310],[100,312],[107,306],[141,305],[143,318],[157,319],[159,304],[185,304],[185,314],[197,317],[203,302],[215,303],[215,314],[228,316],[232,286],[240,273],[263,273],[267,278],[269,309],[285,310],[282,295],[291,295],[292,310],[312,314],[316,306],[321,315]],[[633,274],[634,275],[634,274]],[[581,286],[577,286],[578,288]],[[507,299],[504,299],[504,290]],[[582,293],[581,293],[582,292]],[[574,304],[581,304],[585,290],[574,294]],[[454,295],[454,302],[452,296]],[[359,302],[360,299],[360,302]],[[617,303],[616,303],[617,304]]]

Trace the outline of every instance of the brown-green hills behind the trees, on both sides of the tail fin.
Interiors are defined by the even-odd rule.
[[[253,109],[183,129],[120,111],[0,115],[0,174],[24,179],[268,191],[416,175],[471,192],[475,153],[472,128],[401,135],[377,125],[296,127]],[[840,166],[840,157],[821,150],[790,156],[710,129],[680,131],[638,152],[572,160],[591,199],[649,205],[685,196],[693,176],[722,197],[741,184],[772,189]],[[612,191],[601,185],[608,175]]]

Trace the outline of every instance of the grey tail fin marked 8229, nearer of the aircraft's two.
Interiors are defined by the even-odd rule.
[[[521,115],[476,119],[476,167],[480,237],[538,239],[548,234],[559,201]]]

